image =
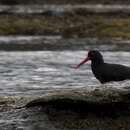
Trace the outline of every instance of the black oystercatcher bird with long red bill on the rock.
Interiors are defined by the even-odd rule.
[[[102,54],[97,50],[89,51],[88,56],[79,63],[76,68],[79,68],[89,60],[91,60],[93,74],[101,83],[130,79],[129,67],[119,64],[105,63]]]

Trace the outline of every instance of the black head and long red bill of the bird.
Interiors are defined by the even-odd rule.
[[[79,68],[81,65],[85,64],[87,61],[91,60],[93,63],[103,63],[103,56],[97,50],[91,50],[88,52],[87,57],[81,61],[76,68]]]

